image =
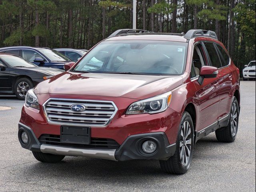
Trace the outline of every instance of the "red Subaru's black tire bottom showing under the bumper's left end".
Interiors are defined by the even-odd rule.
[[[44,163],[57,163],[60,162],[65,157],[64,155],[54,155],[35,151],[32,151],[32,153],[36,160]]]

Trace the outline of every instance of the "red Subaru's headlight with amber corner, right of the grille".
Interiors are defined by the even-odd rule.
[[[126,111],[127,115],[130,114],[143,114],[143,113],[159,113],[165,111],[170,105],[172,99],[172,92],[167,92],[145,100],[140,100],[131,104]]]

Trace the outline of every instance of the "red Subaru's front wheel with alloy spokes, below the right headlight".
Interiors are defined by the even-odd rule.
[[[168,160],[160,160],[160,166],[166,173],[184,174],[191,164],[194,150],[194,126],[188,112],[182,115],[180,128],[176,140],[174,156]]]

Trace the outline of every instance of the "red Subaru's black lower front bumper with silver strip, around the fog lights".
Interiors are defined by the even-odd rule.
[[[31,151],[43,153],[126,161],[133,159],[164,159],[173,156],[176,150],[176,144],[170,145],[164,132],[129,136],[118,149],[88,149],[41,144],[30,127],[22,123],[19,123],[18,127],[19,133],[26,131],[29,138],[28,144],[24,145],[20,140],[19,134],[21,146]],[[154,140],[157,144],[156,152],[151,155],[145,154],[140,150],[142,142],[146,140]]]

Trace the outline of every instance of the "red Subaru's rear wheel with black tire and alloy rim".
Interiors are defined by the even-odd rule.
[[[216,138],[220,142],[234,142],[236,140],[239,122],[239,106],[236,97],[233,97],[233,102],[230,110],[230,120],[228,126],[215,131]]]

